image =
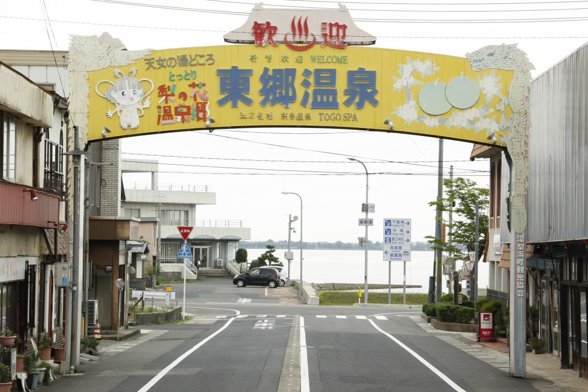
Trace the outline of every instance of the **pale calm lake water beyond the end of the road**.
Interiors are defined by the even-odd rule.
[[[248,259],[254,260],[267,249],[248,249]],[[300,249],[290,249],[294,252],[294,260],[290,264],[292,279],[300,279]],[[284,250],[278,249],[274,253],[288,269],[284,259]],[[303,250],[303,280],[309,283],[356,283],[363,287],[365,269],[365,251],[363,250]],[[419,289],[407,289],[407,292],[426,293],[429,289],[429,276],[433,274],[432,251],[411,252],[412,261],[406,262],[406,284],[420,284]],[[478,287],[483,289],[488,284],[488,266],[479,263]],[[392,262],[392,284],[402,284],[402,262]],[[383,261],[381,250],[368,251],[368,283],[388,284],[388,262]],[[465,292],[465,282],[462,282]],[[401,289],[393,289],[394,291]],[[445,276],[443,276],[443,292],[447,292]]]

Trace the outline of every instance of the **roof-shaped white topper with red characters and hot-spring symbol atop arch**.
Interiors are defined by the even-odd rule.
[[[376,37],[358,28],[353,22],[345,5],[339,8],[264,8],[263,3],[256,4],[249,18],[240,28],[226,33],[225,42],[256,43],[255,29],[270,29],[273,41],[284,43],[284,39],[292,43],[320,44],[320,37],[333,33],[333,28],[344,27],[342,43],[346,45],[373,45]],[[259,31],[258,31],[259,32]],[[265,46],[265,45],[264,45]]]

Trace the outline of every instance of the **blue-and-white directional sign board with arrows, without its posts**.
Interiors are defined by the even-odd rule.
[[[410,262],[411,219],[384,219],[384,261]]]

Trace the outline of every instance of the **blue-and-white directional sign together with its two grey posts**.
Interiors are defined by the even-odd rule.
[[[402,302],[406,304],[406,262],[410,262],[412,219],[384,219],[384,261],[388,262],[388,303],[392,292],[392,262],[403,262]]]

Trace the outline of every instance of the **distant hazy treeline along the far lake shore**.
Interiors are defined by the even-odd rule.
[[[288,241],[239,241],[238,247],[245,249],[265,249],[266,245],[273,245],[276,249],[288,249]],[[290,249],[300,249],[299,241],[290,241]],[[337,250],[353,250],[363,249],[356,242],[304,242],[303,249],[337,249]],[[371,242],[368,241],[369,250],[383,250],[383,244],[379,241]],[[412,250],[432,250],[431,244],[427,242],[417,241],[411,244],[410,249]]]

